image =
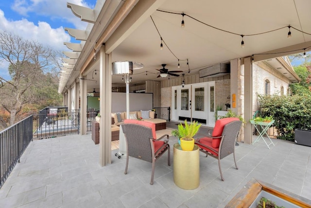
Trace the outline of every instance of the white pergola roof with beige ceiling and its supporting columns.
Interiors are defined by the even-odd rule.
[[[240,105],[245,120],[249,120],[252,62],[311,49],[310,0],[98,0],[94,9],[72,3],[67,6],[89,24],[86,30],[65,29],[81,42],[64,43],[71,51],[64,52],[69,58],[63,59],[59,93],[67,95],[68,103],[73,103],[69,100],[74,97],[72,107],[77,107],[80,82],[84,121],[86,92],[100,89],[102,165],[111,163],[111,87],[124,85],[121,76],[111,75],[112,62],[142,63],[144,67],[132,76],[132,83],[139,83],[168,79],[170,76],[157,77],[155,69],[163,63],[170,70],[194,75],[208,66],[231,61],[243,72],[244,102]],[[94,70],[99,76],[92,77]],[[290,79],[293,75],[287,76]],[[238,90],[235,88],[232,91]],[[251,137],[251,124],[244,129],[244,138]],[[81,132],[86,130],[82,127]]]

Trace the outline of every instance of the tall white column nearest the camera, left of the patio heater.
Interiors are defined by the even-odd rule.
[[[101,166],[111,164],[111,54],[105,54],[105,47],[100,49],[100,113],[99,147]]]

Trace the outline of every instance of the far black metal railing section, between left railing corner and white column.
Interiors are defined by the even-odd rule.
[[[80,132],[80,110],[53,107],[34,114],[34,139],[45,139]],[[57,109],[57,110],[56,110]]]

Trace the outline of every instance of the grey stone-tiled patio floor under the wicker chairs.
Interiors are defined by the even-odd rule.
[[[177,126],[171,122],[168,127]],[[111,153],[112,164],[100,167],[99,145],[90,134],[33,141],[0,189],[0,207],[222,208],[252,178],[311,199],[310,147],[273,139],[276,146],[269,150],[263,141],[239,142],[239,170],[233,156],[221,161],[225,181],[220,179],[217,160],[200,152],[200,186],[184,190],[173,182],[176,142],[171,136],[171,166],[163,155],[150,185],[151,164],[130,158],[125,175],[125,158],[114,156],[118,150]]]

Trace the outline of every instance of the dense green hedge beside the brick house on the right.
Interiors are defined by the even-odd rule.
[[[258,95],[261,116],[273,116],[277,138],[294,141],[295,129],[311,130],[311,95]]]

